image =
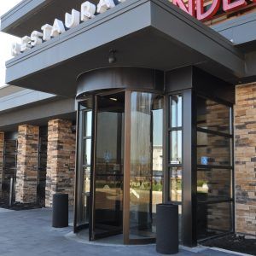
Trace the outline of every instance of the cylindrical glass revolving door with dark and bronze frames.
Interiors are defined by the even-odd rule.
[[[108,90],[79,102],[76,227],[90,240],[155,239],[163,190],[163,102],[160,94]]]

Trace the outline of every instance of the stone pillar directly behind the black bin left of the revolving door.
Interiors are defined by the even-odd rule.
[[[69,204],[74,200],[75,134],[72,122],[49,120],[45,206],[52,207],[55,193],[67,193]]]

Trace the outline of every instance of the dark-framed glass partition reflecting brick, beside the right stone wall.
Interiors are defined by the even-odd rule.
[[[197,238],[232,231],[232,108],[197,97]]]

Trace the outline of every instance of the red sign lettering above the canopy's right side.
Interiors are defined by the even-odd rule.
[[[202,21],[211,20],[218,12],[221,4],[224,12],[241,9],[247,5],[246,0],[213,0],[210,8],[205,10],[203,0],[188,0],[187,4],[183,0],[172,0],[172,3],[189,15],[194,16],[197,20]],[[253,3],[256,3],[256,0],[253,0]]]

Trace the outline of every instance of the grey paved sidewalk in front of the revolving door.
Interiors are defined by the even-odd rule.
[[[72,218],[72,216],[71,216]],[[100,242],[85,241],[85,237],[75,236],[72,227],[54,229],[51,227],[51,209],[29,211],[1,211],[0,209],[0,255],[1,256],[35,256],[35,255],[160,255],[154,245],[147,246],[106,246]],[[209,248],[181,247],[177,255],[231,256]]]

